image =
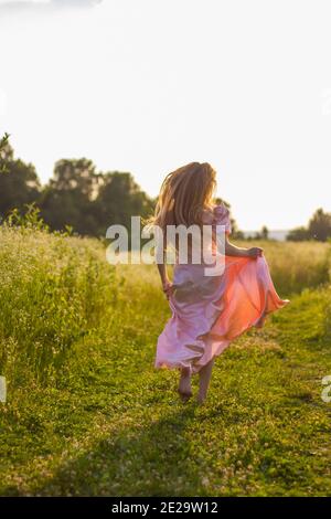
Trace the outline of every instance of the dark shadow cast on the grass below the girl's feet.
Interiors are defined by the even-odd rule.
[[[88,452],[64,463],[33,494],[43,496],[175,496],[201,488],[189,433],[196,405],[179,404],[167,416],[122,426]],[[142,419],[143,420],[143,419]]]

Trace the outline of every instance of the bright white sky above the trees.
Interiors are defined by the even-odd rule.
[[[150,195],[191,161],[242,230],[331,210],[329,0],[0,0],[0,133]]]

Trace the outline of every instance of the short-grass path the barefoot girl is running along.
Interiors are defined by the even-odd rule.
[[[3,406],[0,494],[331,495],[327,290],[233,343],[199,407],[178,401],[175,372],[153,369],[169,310],[141,286],[76,345],[56,388]]]

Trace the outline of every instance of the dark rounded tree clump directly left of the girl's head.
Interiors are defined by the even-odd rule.
[[[130,216],[147,216],[152,200],[130,173],[97,173],[85,158],[60,160],[44,188],[41,215],[53,230],[71,225],[79,234],[105,236],[113,223],[130,227]]]

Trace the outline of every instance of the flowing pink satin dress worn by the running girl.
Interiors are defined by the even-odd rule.
[[[215,205],[205,223],[224,225],[231,233],[229,213]],[[220,229],[220,227],[218,227]],[[220,356],[248,328],[264,325],[267,314],[284,307],[264,255],[257,258],[223,256],[221,275],[205,275],[205,265],[174,265],[174,293],[169,299],[172,316],[159,336],[156,368],[189,367],[196,373]]]

